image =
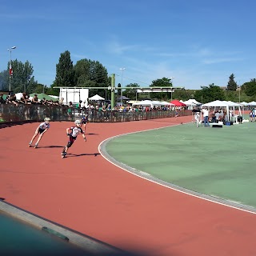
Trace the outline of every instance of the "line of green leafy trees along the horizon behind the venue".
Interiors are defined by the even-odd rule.
[[[9,90],[9,65],[7,69],[0,72],[0,90]],[[56,64],[56,76],[53,84],[50,87],[38,83],[34,79],[33,66],[30,62],[19,62],[17,59],[12,61],[12,69],[14,71],[11,77],[11,90],[14,93],[25,91],[30,93],[42,93],[58,95],[59,89],[54,87],[91,87],[95,88],[90,90],[90,96],[99,94],[103,98],[110,98],[110,90],[97,89],[98,87],[111,86],[111,78],[107,70],[98,61],[90,59],[81,59],[74,65],[70,52],[66,50],[60,54],[58,63]],[[234,74],[230,74],[229,81],[226,85],[226,90],[214,83],[209,86],[201,86],[201,90],[174,90],[173,93],[150,93],[150,94],[137,94],[136,89],[133,87],[140,87],[138,83],[127,84],[127,90],[123,90],[123,95],[127,98],[142,99],[153,98],[156,100],[170,101],[170,98],[182,99],[183,101],[189,98],[195,98],[198,102],[210,102],[216,99],[219,100],[232,100],[234,102],[246,101],[250,102],[256,98],[256,79],[253,78],[250,82],[245,82],[240,88],[237,82],[234,81]],[[120,84],[121,86],[121,84]],[[150,87],[172,87],[170,78],[159,78],[152,81]],[[128,89],[129,88],[129,89]],[[118,90],[118,95],[120,90]]]

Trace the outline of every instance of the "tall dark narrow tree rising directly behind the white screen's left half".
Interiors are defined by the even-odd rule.
[[[66,50],[61,54],[56,64],[55,86],[74,87],[74,66],[70,58],[70,52]]]

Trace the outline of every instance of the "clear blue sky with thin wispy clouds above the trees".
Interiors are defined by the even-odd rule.
[[[0,2],[0,71],[29,61],[50,86],[60,54],[101,62],[116,84],[200,89],[256,78],[254,0],[73,0]],[[120,68],[126,68],[122,71]]]

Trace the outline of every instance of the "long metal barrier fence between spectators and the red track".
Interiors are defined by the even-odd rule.
[[[0,122],[41,122],[49,117],[52,121],[74,121],[88,114],[90,122],[130,122],[174,117],[174,110],[150,110],[137,112],[98,111],[68,106],[0,104]],[[179,110],[180,116],[191,115],[191,110]]]

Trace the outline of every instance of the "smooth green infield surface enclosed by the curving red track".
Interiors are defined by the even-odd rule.
[[[198,193],[256,207],[256,122],[194,123],[126,134],[106,144],[118,162]]]

